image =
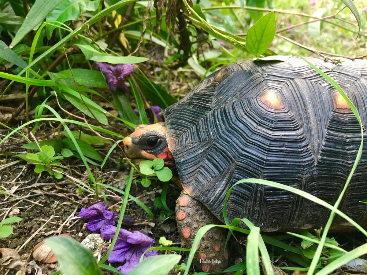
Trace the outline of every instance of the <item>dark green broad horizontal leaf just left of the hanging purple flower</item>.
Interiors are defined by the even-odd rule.
[[[75,81],[80,86],[92,88],[108,88],[103,74],[96,70],[72,69]],[[58,73],[47,72],[51,80],[61,83],[67,87],[75,87],[74,78],[70,70],[64,70]]]

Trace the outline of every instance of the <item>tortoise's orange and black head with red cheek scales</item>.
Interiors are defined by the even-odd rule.
[[[166,166],[175,166],[168,149],[164,122],[135,127],[134,132],[124,138],[125,154],[138,165],[145,159],[162,158]]]

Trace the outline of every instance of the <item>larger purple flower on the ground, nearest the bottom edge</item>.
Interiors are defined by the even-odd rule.
[[[113,239],[117,227],[113,225],[106,225],[102,230],[102,236],[106,240]],[[120,229],[116,244],[113,247],[112,253],[108,257],[110,263],[123,263],[117,269],[123,274],[127,274],[132,268],[139,263],[141,255],[145,250],[152,247],[154,240],[142,232],[130,232],[125,229]],[[155,256],[158,254],[157,250],[150,250],[144,254],[144,258]]]

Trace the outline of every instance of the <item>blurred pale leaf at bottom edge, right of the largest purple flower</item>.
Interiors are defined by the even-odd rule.
[[[181,255],[167,254],[145,258],[128,275],[166,275],[181,260]]]

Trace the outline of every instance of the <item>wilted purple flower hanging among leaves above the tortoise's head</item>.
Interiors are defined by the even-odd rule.
[[[106,76],[108,88],[111,91],[116,91],[117,86],[120,86],[125,91],[127,86],[124,83],[124,77],[129,76],[134,71],[134,64],[117,64],[115,67],[106,63],[95,62],[99,70]]]

